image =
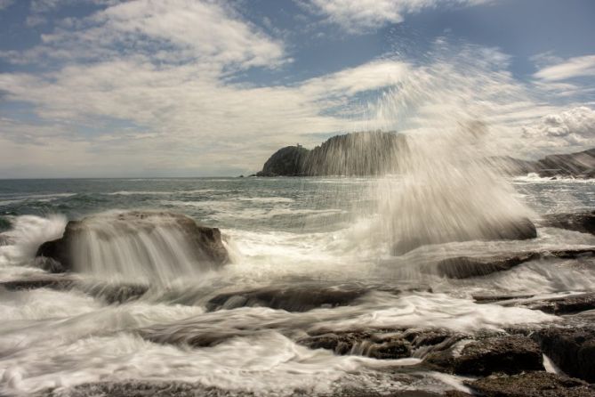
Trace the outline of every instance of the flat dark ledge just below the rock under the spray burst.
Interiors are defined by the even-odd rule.
[[[538,253],[519,253],[488,257],[458,256],[438,262],[438,275],[449,279],[467,279],[485,276],[496,271],[507,271],[520,263],[538,259]]]

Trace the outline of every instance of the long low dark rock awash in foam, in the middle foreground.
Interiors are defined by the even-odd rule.
[[[245,306],[263,306],[287,312],[307,312],[319,307],[349,305],[367,292],[366,288],[342,289],[317,285],[256,288],[219,294],[211,298],[206,307],[212,312]]]

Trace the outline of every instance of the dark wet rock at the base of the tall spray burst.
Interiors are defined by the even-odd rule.
[[[535,239],[537,237],[537,230],[535,224],[528,218],[520,218],[516,221],[507,223],[499,223],[494,225],[485,225],[482,231],[479,231],[475,236],[465,236],[461,233],[459,236],[444,237],[440,239],[430,239],[423,237],[409,237],[407,239],[399,240],[392,247],[393,255],[404,255],[417,247],[444,244],[452,242],[470,241],[473,239],[481,240],[497,240],[497,239]]]

